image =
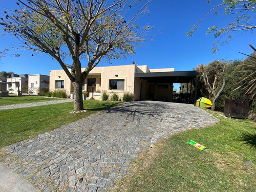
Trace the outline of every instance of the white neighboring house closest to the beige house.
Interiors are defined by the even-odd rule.
[[[40,94],[40,88],[49,87],[49,75],[29,75],[29,94],[30,95],[38,95]],[[41,94],[44,94],[43,92]]]

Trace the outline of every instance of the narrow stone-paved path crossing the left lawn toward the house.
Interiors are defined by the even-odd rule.
[[[53,101],[41,101],[41,102],[33,102],[33,103],[1,105],[0,110],[30,108],[31,106],[41,106],[41,105],[48,105],[48,104],[66,103],[66,102],[72,102],[72,101],[74,101],[74,100],[73,99],[59,99],[59,100],[53,100]]]

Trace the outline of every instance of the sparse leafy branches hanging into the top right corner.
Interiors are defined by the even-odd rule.
[[[207,0],[210,3],[210,0]],[[256,28],[255,20],[255,8],[256,1],[252,0],[223,0],[222,4],[219,4],[209,10],[195,25],[191,26],[191,29],[187,32],[187,36],[192,36],[193,33],[198,30],[200,23],[203,22],[204,18],[207,17],[210,13],[218,16],[221,12],[224,15],[233,16],[230,23],[224,27],[219,28],[216,24],[208,28],[207,33],[214,33],[217,42],[214,44],[214,53],[218,51],[218,47],[222,46],[225,42],[237,38],[245,31],[253,32],[253,29]],[[225,40],[222,40],[224,37]]]

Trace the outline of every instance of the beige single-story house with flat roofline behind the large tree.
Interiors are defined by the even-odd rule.
[[[188,83],[196,77],[196,71],[148,69],[146,65],[95,67],[84,80],[82,89],[94,99],[101,99],[102,91],[106,91],[110,95],[117,93],[120,98],[129,92],[134,94],[134,100],[172,101],[173,83]],[[64,70],[50,71],[50,90],[66,90],[70,96],[74,88]]]

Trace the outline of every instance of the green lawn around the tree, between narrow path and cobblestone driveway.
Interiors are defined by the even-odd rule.
[[[0,147],[56,129],[119,102],[85,100],[86,113],[71,114],[73,102],[0,111]]]

